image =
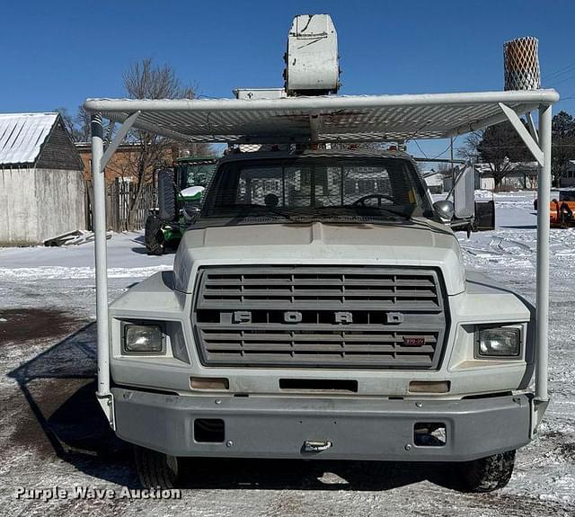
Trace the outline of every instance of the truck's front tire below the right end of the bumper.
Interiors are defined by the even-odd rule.
[[[515,450],[459,464],[459,480],[466,492],[492,492],[506,486],[513,474]]]

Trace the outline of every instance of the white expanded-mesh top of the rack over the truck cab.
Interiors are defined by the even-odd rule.
[[[88,99],[88,111],[190,142],[266,143],[450,138],[554,103],[554,90],[465,94],[288,97],[270,100]]]

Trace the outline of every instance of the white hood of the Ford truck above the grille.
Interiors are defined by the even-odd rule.
[[[439,267],[447,294],[464,291],[459,243],[443,225],[286,223],[188,230],[174,259],[175,288],[193,291],[204,265],[347,264]]]

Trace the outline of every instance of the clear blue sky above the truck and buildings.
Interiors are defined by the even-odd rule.
[[[572,0],[4,2],[0,112],[74,113],[86,97],[120,97],[122,72],[146,57],[208,96],[280,86],[296,13],[332,14],[342,94],[500,90],[503,42],[536,36],[544,86],[565,99],[555,110],[575,114]]]

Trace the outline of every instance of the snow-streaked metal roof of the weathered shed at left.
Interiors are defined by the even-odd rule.
[[[0,114],[0,165],[33,164],[57,113]]]

